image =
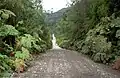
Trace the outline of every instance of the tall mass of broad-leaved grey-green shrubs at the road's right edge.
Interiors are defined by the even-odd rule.
[[[118,19],[102,18],[101,22],[87,33],[82,52],[90,55],[96,62],[106,63],[113,61],[118,51],[113,48],[116,45],[116,38],[119,36],[118,31]]]

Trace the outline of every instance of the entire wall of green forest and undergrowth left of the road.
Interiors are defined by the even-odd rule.
[[[41,0],[0,0],[0,77],[23,72],[31,54],[51,48]]]

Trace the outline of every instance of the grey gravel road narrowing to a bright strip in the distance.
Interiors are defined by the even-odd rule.
[[[53,35],[53,49],[38,55],[25,73],[13,78],[120,78],[120,72],[84,55],[61,49]]]

